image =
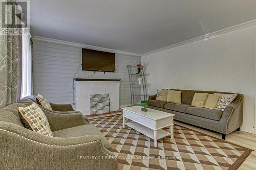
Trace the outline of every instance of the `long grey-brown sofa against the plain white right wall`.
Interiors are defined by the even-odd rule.
[[[172,89],[179,90],[179,89]],[[226,135],[234,130],[240,130],[243,124],[243,94],[237,94],[236,98],[224,111],[191,106],[195,93],[228,93],[219,91],[180,90],[181,103],[174,104],[166,101],[157,101],[156,94],[148,98],[149,108],[175,114],[174,119],[187,124],[195,125],[208,130]]]

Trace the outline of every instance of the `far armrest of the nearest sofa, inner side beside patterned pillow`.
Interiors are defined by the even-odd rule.
[[[52,131],[89,124],[83,119],[83,115],[80,112],[59,114],[45,109],[42,109],[42,111],[45,113]]]

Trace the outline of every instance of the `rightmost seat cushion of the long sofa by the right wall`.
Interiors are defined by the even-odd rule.
[[[212,110],[212,109],[201,108],[201,107],[188,107],[186,109],[186,113],[219,121],[221,119],[223,111]]]

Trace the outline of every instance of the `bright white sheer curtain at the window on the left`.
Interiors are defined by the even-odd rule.
[[[32,55],[31,35],[22,36],[22,90],[20,99],[32,95]]]

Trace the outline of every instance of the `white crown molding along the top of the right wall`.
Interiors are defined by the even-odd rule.
[[[219,31],[208,33],[208,34],[205,34],[205,35],[202,35],[202,36],[199,36],[199,37],[195,37],[195,38],[191,38],[191,39],[188,39],[188,40],[185,40],[185,41],[182,41],[182,42],[178,42],[178,43],[175,43],[175,44],[172,44],[172,45],[161,47],[161,48],[158,48],[156,50],[153,50],[153,51],[150,51],[150,52],[147,52],[147,53],[143,53],[141,55],[146,56],[146,55],[150,55],[150,54],[153,54],[153,53],[157,53],[157,52],[167,50],[169,48],[174,48],[174,47],[184,45],[184,44],[187,44],[187,43],[199,41],[199,40],[202,40],[202,39],[214,38],[215,36],[218,36],[218,35],[221,35],[221,34],[224,34],[224,33],[227,33],[227,32],[231,32],[231,31],[239,30],[239,29],[242,29],[242,28],[245,28],[245,27],[253,26],[253,25],[256,25],[256,19],[250,20],[248,22],[240,23],[239,25],[228,27],[228,28],[225,28],[225,29],[222,29],[222,30],[219,30]]]

